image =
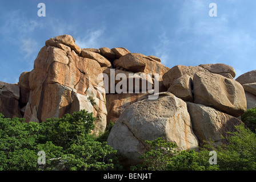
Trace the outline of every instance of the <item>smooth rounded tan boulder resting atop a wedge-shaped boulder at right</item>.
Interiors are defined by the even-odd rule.
[[[239,117],[246,111],[245,91],[239,82],[210,72],[193,77],[194,102]]]

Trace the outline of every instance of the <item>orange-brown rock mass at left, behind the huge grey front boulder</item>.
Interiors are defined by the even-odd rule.
[[[137,73],[133,77],[154,86],[155,73],[161,71],[162,81],[163,73],[170,69],[160,61],[154,56],[130,53],[126,48],[79,48],[72,36],[60,35],[46,40],[34,69],[23,72],[18,84],[0,83],[0,112],[10,118],[23,117],[26,122],[45,122],[47,118],[86,109],[97,118],[93,132],[99,134],[105,131],[107,122],[117,120],[122,108],[145,94],[105,92],[109,86],[104,74],[111,77],[111,71],[115,72],[114,86],[120,81],[115,80],[119,73],[127,78]],[[139,72],[133,69],[138,64],[142,65]],[[150,78],[145,76],[147,73],[151,73]]]

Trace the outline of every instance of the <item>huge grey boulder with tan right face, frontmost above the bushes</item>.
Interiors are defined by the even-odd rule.
[[[134,165],[146,150],[145,140],[163,137],[177,143],[178,150],[197,148],[186,102],[173,94],[159,93],[157,100],[135,102],[123,110],[111,129],[107,143],[117,149],[126,164]]]

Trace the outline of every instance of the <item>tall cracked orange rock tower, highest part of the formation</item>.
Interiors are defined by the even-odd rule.
[[[103,81],[98,77],[102,73],[99,61],[79,56],[81,49],[69,36],[58,36],[52,40],[70,48],[55,47],[47,40],[48,46],[38,53],[34,69],[29,74],[30,94],[24,118],[27,122],[44,122],[46,118],[62,117],[66,113],[86,109],[97,118],[94,132],[104,131],[106,96],[97,89]]]

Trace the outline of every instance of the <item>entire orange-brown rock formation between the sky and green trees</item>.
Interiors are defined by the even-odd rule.
[[[152,55],[79,48],[72,36],[61,35],[46,40],[18,84],[0,82],[0,113],[45,122],[86,109],[96,118],[95,134],[115,123],[107,143],[134,165],[145,140],[163,137],[178,150],[223,142],[241,123],[237,117],[256,107],[256,71],[234,77],[226,64],[168,68]]]

